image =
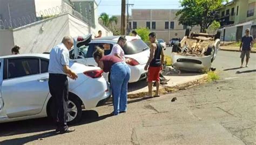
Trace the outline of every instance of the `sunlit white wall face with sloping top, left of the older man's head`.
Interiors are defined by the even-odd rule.
[[[69,34],[69,14],[39,21],[14,30],[14,43],[21,53],[43,53],[61,42]]]

